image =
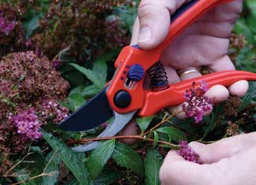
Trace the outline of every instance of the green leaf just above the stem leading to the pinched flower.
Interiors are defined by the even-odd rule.
[[[177,128],[166,126],[159,128],[156,131],[170,135],[174,141],[187,140],[186,133]]]

